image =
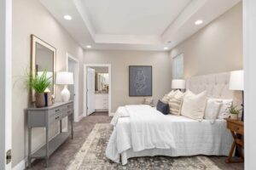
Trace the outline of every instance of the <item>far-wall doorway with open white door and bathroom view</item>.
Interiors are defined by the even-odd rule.
[[[84,113],[111,113],[111,65],[84,65]]]

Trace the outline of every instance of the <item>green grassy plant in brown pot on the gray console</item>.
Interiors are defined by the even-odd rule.
[[[47,71],[43,71],[43,74],[38,76],[38,74],[33,75],[32,72],[28,74],[28,79],[26,80],[28,88],[35,91],[35,105],[36,107],[44,107],[44,91],[51,85],[51,77],[47,77]]]

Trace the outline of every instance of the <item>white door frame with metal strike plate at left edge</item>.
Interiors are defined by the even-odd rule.
[[[0,1],[0,169],[6,165],[5,153],[12,148],[12,1]]]

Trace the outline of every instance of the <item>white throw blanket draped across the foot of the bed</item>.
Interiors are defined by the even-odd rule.
[[[172,131],[165,115],[149,105],[126,105],[125,110],[131,120],[133,151],[175,148]]]

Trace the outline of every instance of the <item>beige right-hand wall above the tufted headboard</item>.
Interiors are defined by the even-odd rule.
[[[177,54],[184,54],[184,77],[241,69],[241,3],[173,48]]]

